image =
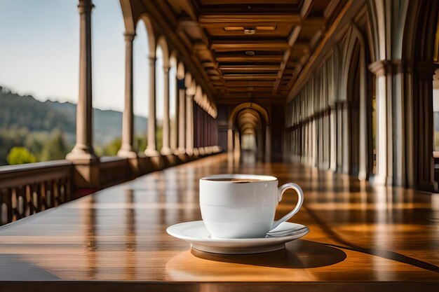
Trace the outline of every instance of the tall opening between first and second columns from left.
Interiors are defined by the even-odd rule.
[[[114,156],[121,148],[125,43],[121,10],[116,1],[93,1],[93,148],[98,156]],[[111,47],[112,50],[108,48]],[[108,60],[112,62],[108,62]],[[111,86],[108,86],[111,84]],[[111,115],[111,116],[110,116]],[[113,116],[113,117],[112,117]],[[114,122],[117,121],[117,127]],[[113,125],[112,127],[110,125]],[[146,128],[146,125],[144,125]]]

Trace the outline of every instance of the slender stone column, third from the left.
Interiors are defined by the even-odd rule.
[[[156,144],[156,57],[149,57],[148,146],[145,154],[158,155]]]

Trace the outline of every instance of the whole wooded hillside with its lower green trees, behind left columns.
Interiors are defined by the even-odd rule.
[[[76,104],[40,102],[32,96],[18,95],[0,86],[0,165],[7,164],[6,157],[14,146],[27,148],[39,161],[62,158],[65,151],[53,156],[51,152],[56,151],[46,149],[48,154],[44,154],[43,148],[58,141],[69,151],[75,141],[75,121]],[[117,143],[121,131],[121,112],[93,109],[93,144],[96,149]],[[147,118],[135,117],[135,132],[138,136],[146,136]]]

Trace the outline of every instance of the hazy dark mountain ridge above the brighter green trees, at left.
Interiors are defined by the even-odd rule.
[[[147,118],[135,117],[135,132],[146,135]],[[76,136],[76,104],[40,102],[31,95],[18,95],[0,86],[0,130],[25,128],[29,132],[60,130],[66,141],[74,145]],[[93,144],[104,146],[121,137],[120,111],[93,109]]]

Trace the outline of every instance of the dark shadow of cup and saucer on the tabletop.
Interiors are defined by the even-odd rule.
[[[191,253],[204,260],[290,269],[324,267],[340,263],[346,258],[346,253],[341,249],[303,239],[286,244],[285,249],[269,253],[227,255],[207,253],[197,249],[191,249]]]

